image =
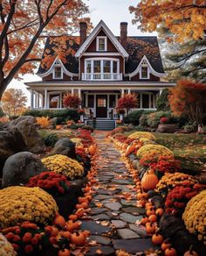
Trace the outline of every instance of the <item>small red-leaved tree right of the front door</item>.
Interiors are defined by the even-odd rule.
[[[128,111],[130,109],[136,108],[137,104],[138,104],[138,99],[135,94],[126,94],[126,95],[120,97],[120,99],[118,100],[117,108],[118,109],[126,109],[127,115],[128,115]]]

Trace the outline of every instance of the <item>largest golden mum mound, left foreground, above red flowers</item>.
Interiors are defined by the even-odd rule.
[[[0,190],[0,228],[31,221],[49,224],[58,206],[41,188],[12,186]]]

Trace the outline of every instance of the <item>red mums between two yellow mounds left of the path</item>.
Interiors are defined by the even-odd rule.
[[[55,174],[53,172],[44,172],[31,177],[26,186],[30,188],[42,188],[49,194],[55,196],[65,194],[70,186],[70,182],[67,181],[64,175]]]

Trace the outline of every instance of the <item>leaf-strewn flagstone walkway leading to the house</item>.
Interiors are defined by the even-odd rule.
[[[136,207],[136,191],[120,153],[105,136],[96,135],[100,151],[97,184],[94,184],[89,217],[81,228],[91,231],[93,246],[86,255],[116,255],[125,250],[134,255],[154,248],[147,232],[135,223],[141,220],[145,209]],[[96,242],[95,242],[96,241]]]

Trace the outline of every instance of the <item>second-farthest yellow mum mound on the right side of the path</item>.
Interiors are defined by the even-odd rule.
[[[137,157],[141,158],[143,156],[174,156],[174,154],[166,147],[161,145],[146,145],[141,146],[137,152]]]

